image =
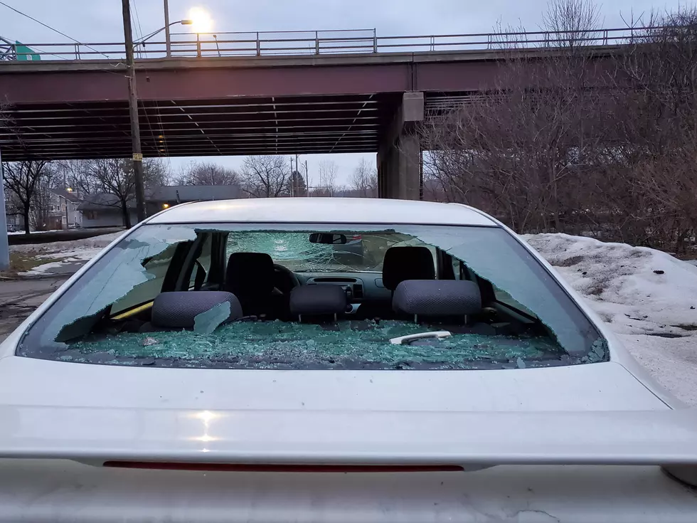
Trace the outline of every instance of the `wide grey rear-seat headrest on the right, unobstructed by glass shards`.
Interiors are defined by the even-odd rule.
[[[481,311],[481,294],[469,280],[406,280],[397,286],[392,307],[417,316],[467,316]]]

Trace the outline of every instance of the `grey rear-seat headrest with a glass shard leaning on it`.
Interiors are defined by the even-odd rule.
[[[196,316],[225,302],[230,304],[230,316],[226,321],[243,316],[240,300],[230,292],[161,292],[152,303],[150,322],[154,327],[165,329],[193,329]]]

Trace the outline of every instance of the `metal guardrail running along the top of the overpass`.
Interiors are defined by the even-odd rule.
[[[375,29],[346,31],[259,31],[254,33],[172,33],[172,58],[216,56],[317,56],[336,54],[419,53],[494,49],[617,46],[645,38],[659,27],[608,28],[592,31],[533,31],[420,36],[378,36]],[[9,47],[14,60],[122,59],[124,43],[26,43]],[[137,58],[166,58],[166,43],[135,43]],[[0,60],[3,57],[0,56]],[[7,58],[6,58],[7,59]]]

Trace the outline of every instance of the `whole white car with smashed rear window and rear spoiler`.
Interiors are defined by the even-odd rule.
[[[175,206],[0,345],[0,522],[693,523],[696,470],[696,412],[467,206]]]

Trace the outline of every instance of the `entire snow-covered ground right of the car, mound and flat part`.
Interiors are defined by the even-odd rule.
[[[523,236],[659,384],[697,406],[697,267],[659,250],[565,234]]]

